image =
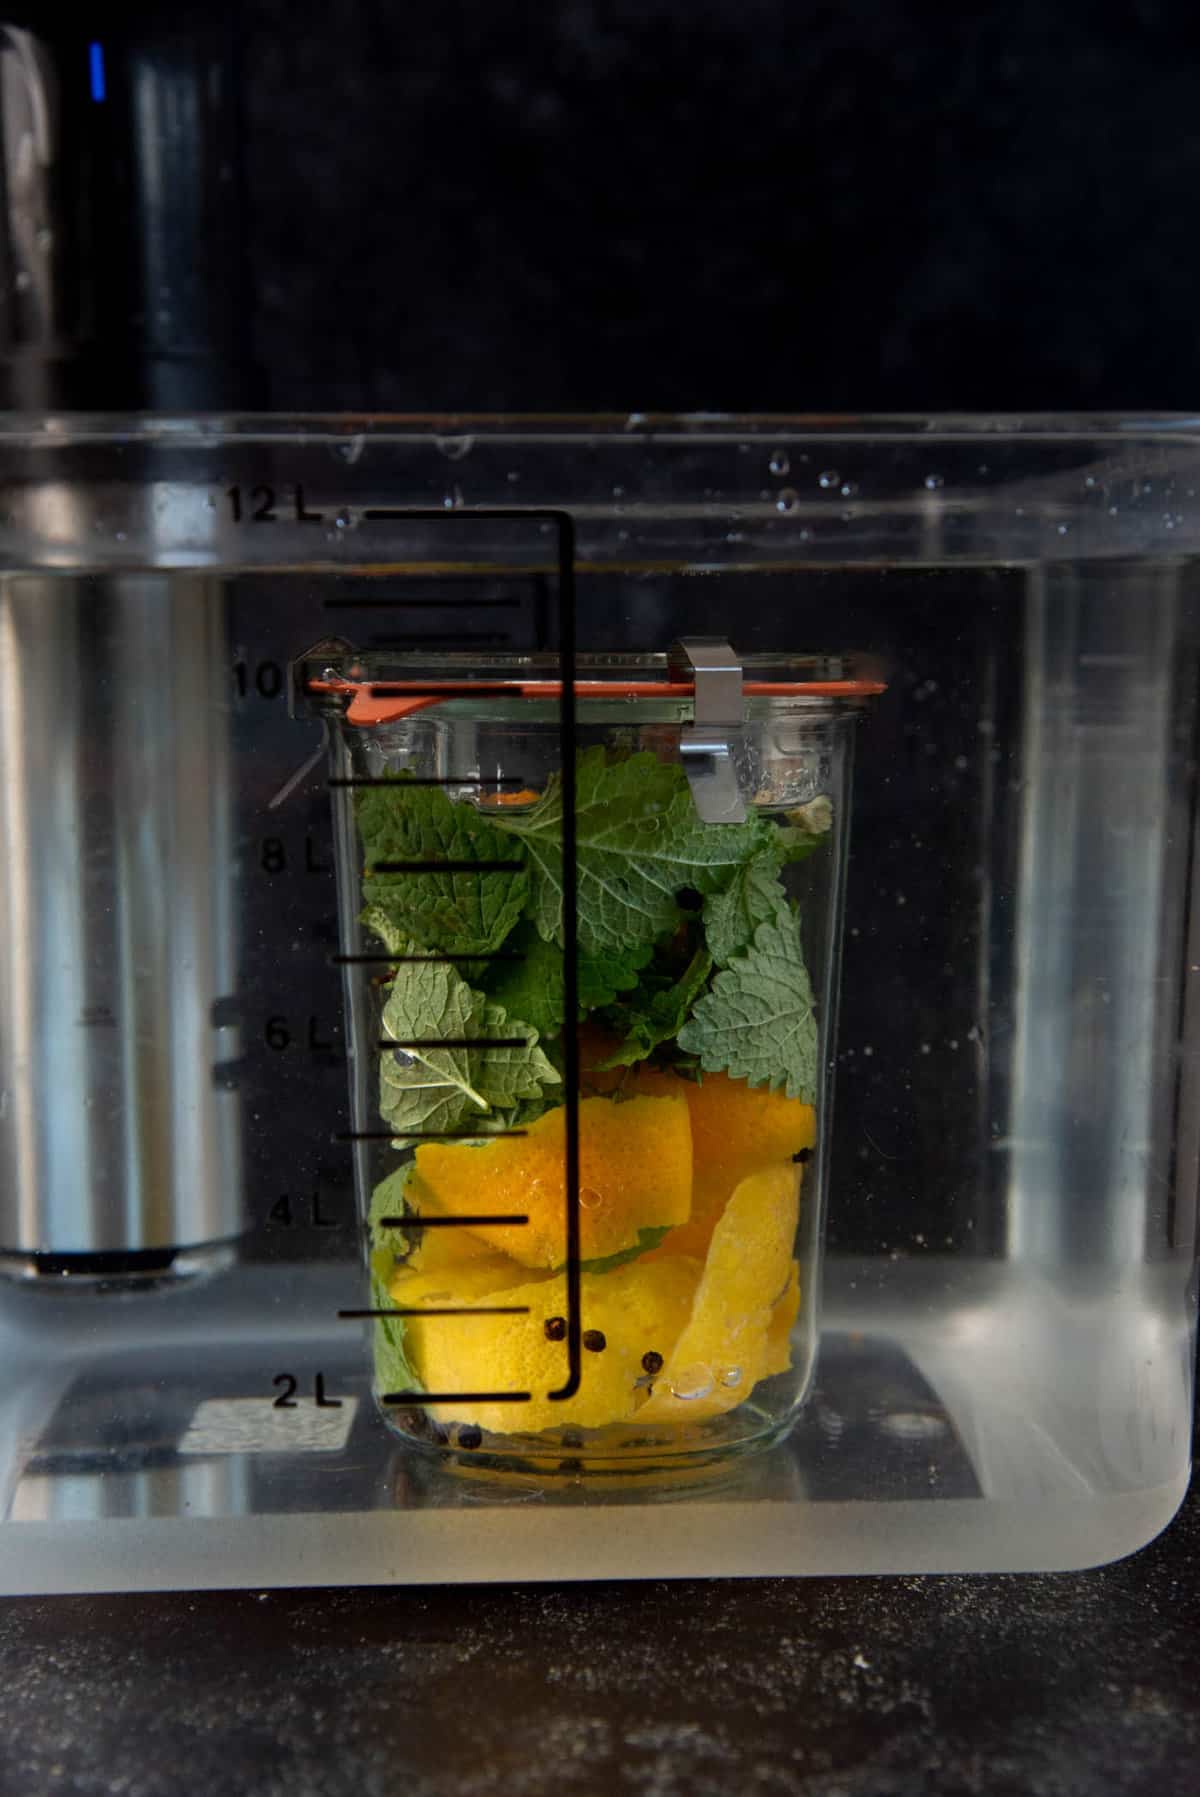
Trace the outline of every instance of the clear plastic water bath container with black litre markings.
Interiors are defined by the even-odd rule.
[[[0,1587],[1162,1529],[1198,491],[1171,417],[2,420]]]

